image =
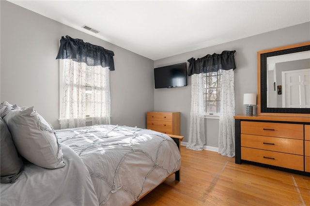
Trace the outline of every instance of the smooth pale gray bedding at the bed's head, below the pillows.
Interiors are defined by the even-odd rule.
[[[24,161],[24,171],[12,184],[0,184],[1,206],[98,206],[86,166],[62,145],[65,166],[45,169]],[[86,192],[85,192],[86,191]]]

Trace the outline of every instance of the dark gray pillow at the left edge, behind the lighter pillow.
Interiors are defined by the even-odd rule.
[[[23,161],[18,156],[11,133],[0,118],[0,182],[13,183],[23,171]]]

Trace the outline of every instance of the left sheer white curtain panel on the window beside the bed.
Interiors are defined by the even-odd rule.
[[[61,129],[86,125],[85,73],[86,64],[63,59],[63,91]]]

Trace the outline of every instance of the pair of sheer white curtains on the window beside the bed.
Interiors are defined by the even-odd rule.
[[[62,62],[61,129],[86,126],[86,115],[92,124],[110,124],[109,67],[87,66],[72,59]]]

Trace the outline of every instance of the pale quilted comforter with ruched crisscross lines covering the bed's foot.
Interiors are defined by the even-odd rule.
[[[160,132],[95,125],[56,133],[86,165],[100,206],[131,205],[181,166],[175,142]]]

